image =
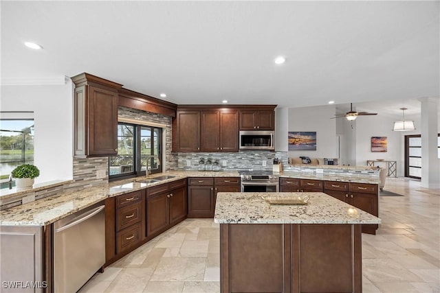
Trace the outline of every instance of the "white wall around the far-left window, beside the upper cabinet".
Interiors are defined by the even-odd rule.
[[[2,85],[1,111],[34,111],[35,183],[73,178],[72,82],[57,85]]]

